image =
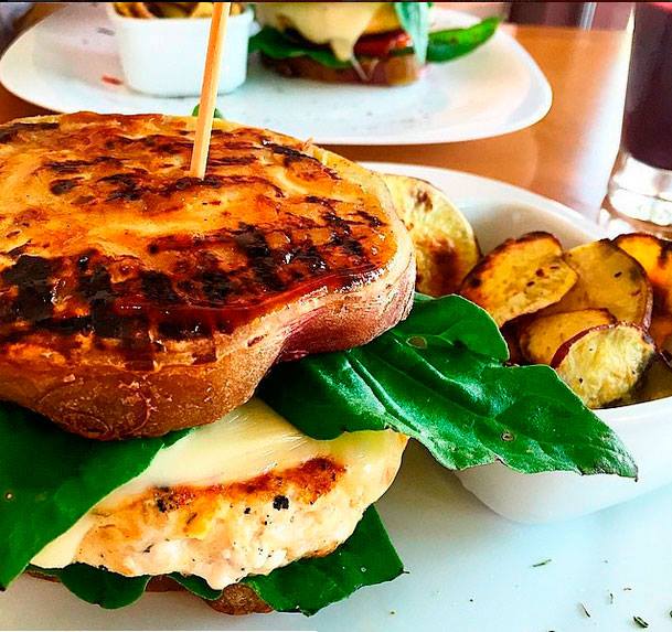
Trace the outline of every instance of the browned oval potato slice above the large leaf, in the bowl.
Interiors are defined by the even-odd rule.
[[[557,303],[578,276],[548,233],[508,239],[467,275],[460,293],[486,309],[499,326]]]

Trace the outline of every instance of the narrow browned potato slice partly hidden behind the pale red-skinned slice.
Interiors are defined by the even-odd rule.
[[[595,308],[533,318],[520,329],[521,352],[532,364],[551,364],[556,351],[568,340],[588,329],[615,322],[609,310]]]

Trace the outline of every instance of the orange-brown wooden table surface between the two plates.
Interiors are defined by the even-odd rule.
[[[413,162],[503,180],[595,218],[618,149],[630,35],[547,26],[506,29],[553,88],[553,107],[541,122],[471,142],[333,149],[354,160]],[[0,122],[44,113],[0,87]]]

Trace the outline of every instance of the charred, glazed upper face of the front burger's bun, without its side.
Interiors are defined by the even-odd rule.
[[[0,127],[0,344],[104,349],[141,368],[387,266],[397,239],[367,172],[216,121],[198,180],[193,126],[81,113]]]

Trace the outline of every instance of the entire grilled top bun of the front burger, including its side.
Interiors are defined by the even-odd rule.
[[[404,318],[410,242],[371,172],[191,117],[0,126],[0,398],[97,439],[212,422],[278,360]]]

